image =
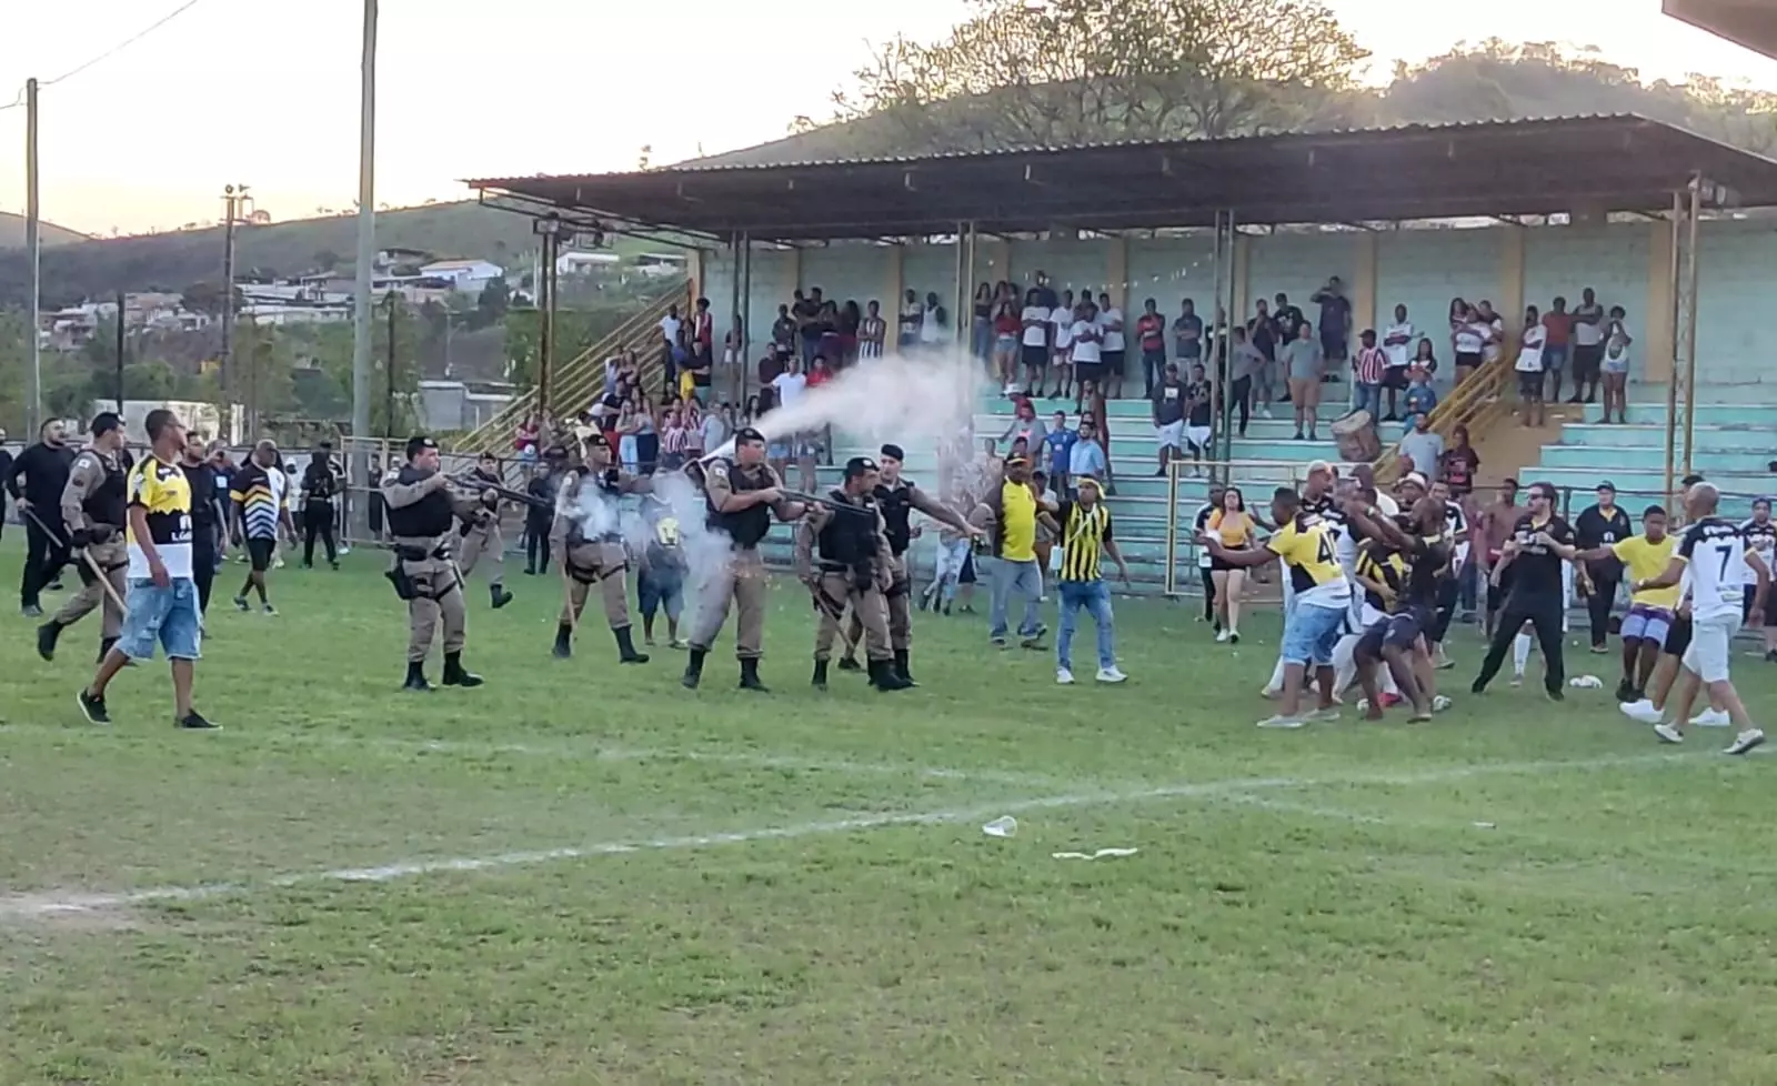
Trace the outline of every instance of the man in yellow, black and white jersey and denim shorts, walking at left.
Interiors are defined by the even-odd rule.
[[[153,451],[130,471],[124,546],[130,553],[123,633],[92,684],[80,691],[91,723],[110,723],[105,688],[131,659],[153,659],[158,643],[172,665],[174,723],[192,731],[217,725],[192,709],[192,674],[201,654],[197,583],[192,578],[192,487],[179,467],[185,427],[165,409],[147,412]]]

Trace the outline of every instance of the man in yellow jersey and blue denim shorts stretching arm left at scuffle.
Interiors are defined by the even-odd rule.
[[[1271,498],[1272,523],[1279,528],[1260,549],[1230,551],[1214,533],[1203,537],[1210,555],[1230,567],[1258,567],[1281,560],[1292,590],[1283,619],[1283,695],[1276,716],[1260,727],[1295,729],[1310,720],[1338,720],[1333,709],[1333,647],[1345,631],[1351,581],[1338,562],[1338,537],[1317,514],[1303,510],[1301,498],[1279,487]],[[1301,699],[1308,668],[1315,670],[1320,702],[1303,715]]]

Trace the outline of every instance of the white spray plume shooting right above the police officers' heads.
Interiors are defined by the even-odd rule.
[[[967,457],[972,453],[970,423],[984,384],[981,361],[961,348],[890,354],[848,366],[803,393],[796,403],[766,412],[755,427],[768,441],[832,427],[841,444],[892,441],[910,451],[963,437]],[[732,450],[729,441],[714,455]]]

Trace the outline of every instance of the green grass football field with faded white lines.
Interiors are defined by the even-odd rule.
[[[274,574],[275,619],[235,571],[220,734],[158,663],[80,723],[96,626],[43,663],[0,619],[5,1086],[1777,1082],[1777,763],[1661,748],[1608,683],[1471,699],[1470,635],[1432,725],[1263,732],[1274,622],[1120,603],[1130,683],[1057,690],[924,619],[920,690],[816,695],[785,585],[775,693],[727,638],[688,693],[595,620],[549,659],[558,585],[515,578],[471,594],[489,684],[403,695],[373,556]]]

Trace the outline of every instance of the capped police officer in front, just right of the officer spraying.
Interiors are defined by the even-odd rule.
[[[816,690],[826,690],[826,661],[846,604],[864,638],[871,686],[883,693],[912,686],[897,672],[888,640],[883,594],[894,583],[894,551],[883,512],[871,499],[876,482],[876,462],[851,457],[844,483],[830,494],[832,505],[816,505],[796,528],[796,576],[814,594],[814,610],[821,613],[810,681]]]

